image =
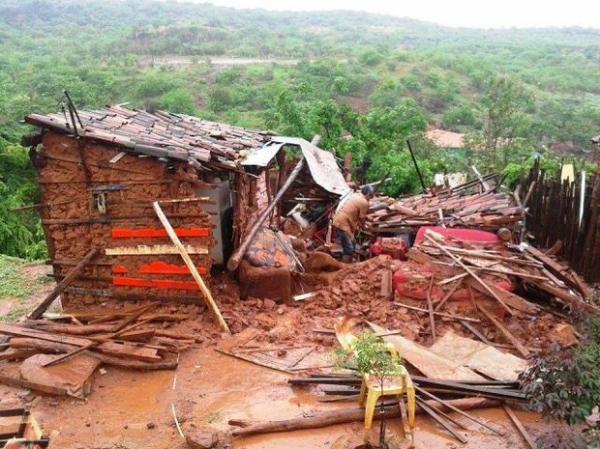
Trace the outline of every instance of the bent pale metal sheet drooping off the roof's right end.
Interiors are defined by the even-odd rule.
[[[273,136],[271,142],[300,147],[314,181],[328,192],[344,195],[350,191],[342,171],[330,152],[321,150],[298,137]]]

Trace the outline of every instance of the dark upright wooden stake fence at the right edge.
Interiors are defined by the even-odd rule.
[[[560,240],[559,256],[588,282],[600,282],[600,174],[587,175],[583,207],[581,187],[581,173],[575,182],[561,182],[536,163],[520,187],[532,189],[526,226],[537,247]]]

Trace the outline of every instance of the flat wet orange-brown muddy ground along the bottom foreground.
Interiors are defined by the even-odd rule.
[[[216,353],[211,348],[196,348],[182,356],[175,372],[140,373],[114,368],[107,368],[106,374],[97,371],[93,391],[85,401],[39,396],[0,385],[0,407],[29,403],[50,434],[52,448],[175,449],[187,446],[177,432],[172,406],[187,432],[192,425],[226,430],[227,421],[232,418],[284,419],[353,404],[320,403],[318,388],[291,388],[287,384],[289,377]],[[501,409],[473,413],[504,428],[506,436],[498,437],[456,415],[471,429],[462,432],[469,443],[460,445],[429,419],[418,417],[416,447],[526,447]],[[533,436],[548,428],[539,415],[522,411],[517,414]],[[399,432],[397,421],[391,421],[393,432]],[[328,449],[335,447],[338,440],[360,439],[362,433],[362,423],[354,423],[246,437],[235,440],[233,447]]]

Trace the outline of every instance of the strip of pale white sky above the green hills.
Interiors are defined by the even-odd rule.
[[[188,0],[189,1],[189,0]],[[196,0],[200,1],[200,0]],[[476,28],[600,27],[600,0],[204,0],[235,8],[351,9]]]

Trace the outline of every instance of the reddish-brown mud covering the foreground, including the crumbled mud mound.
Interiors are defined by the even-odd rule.
[[[29,405],[51,437],[51,448],[162,449],[187,447],[176,428],[174,411],[184,432],[193,433],[203,426],[228,430],[227,422],[233,418],[277,420],[310,416],[316,410],[352,407],[353,401],[319,402],[323,396],[319,387],[292,388],[287,380],[294,376],[232,358],[216,352],[215,348],[227,347],[229,342],[239,344],[241,340],[245,344],[250,341],[270,347],[310,346],[314,350],[302,362],[303,366],[329,366],[335,338],[315,330],[331,329],[334,320],[344,314],[372,320],[389,329],[404,329],[407,337],[427,343],[430,336],[419,334],[419,324],[427,320],[426,315],[398,308],[391,299],[379,295],[377,273],[383,267],[389,267],[389,260],[375,258],[321,279],[304,279],[305,288],[318,285],[319,294],[288,305],[256,298],[240,301],[237,285],[227,276],[216,276],[211,288],[237,334],[232,339],[219,331],[204,308],[182,306],[178,309],[189,312],[193,319],[175,329],[193,335],[198,344],[181,354],[176,371],[140,372],[105,367],[94,373],[92,392],[85,400],[42,396],[0,385],[0,408]],[[31,300],[32,304],[35,302]],[[403,299],[403,302],[410,301]],[[422,306],[418,301],[413,304]],[[470,304],[453,303],[449,307],[455,313],[475,316]],[[537,347],[545,344],[540,336],[555,323],[555,317],[544,315],[525,324],[515,321],[513,327],[530,347]],[[442,334],[450,328],[457,333],[464,331],[452,321],[439,320],[438,326]],[[497,337],[493,329],[485,327],[483,332]],[[473,413],[503,427],[506,436],[498,437],[457,415],[454,417],[470,429],[462,432],[469,443],[461,445],[428,418],[418,417],[416,447],[527,447],[502,409]],[[517,413],[534,437],[551,427],[537,414]],[[397,421],[391,422],[393,432],[399,432]],[[358,444],[362,435],[362,423],[353,423],[240,438],[232,444],[238,449],[342,449],[352,442]],[[406,447],[406,442],[402,447]]]

